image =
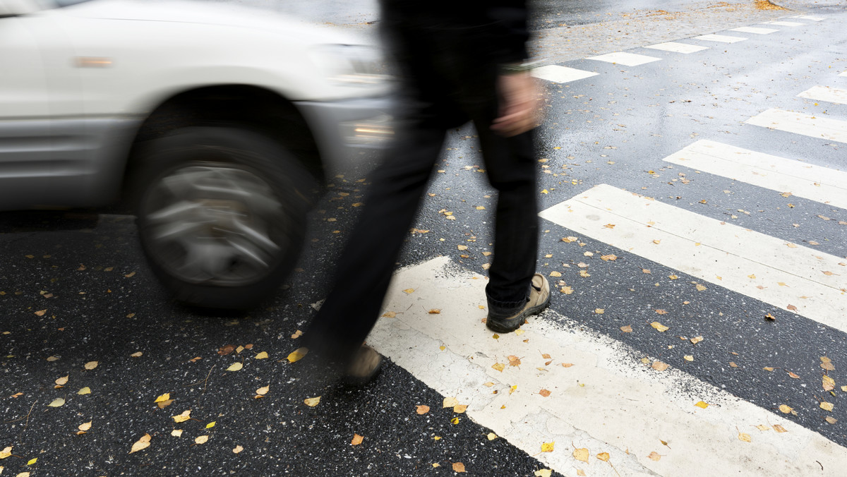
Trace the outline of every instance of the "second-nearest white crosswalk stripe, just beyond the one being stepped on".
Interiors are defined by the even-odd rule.
[[[540,216],[775,307],[793,305],[796,313],[847,332],[844,258],[606,184]]]

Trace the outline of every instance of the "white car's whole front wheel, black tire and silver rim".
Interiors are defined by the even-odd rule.
[[[191,127],[136,157],[141,247],[176,300],[246,309],[276,291],[303,247],[314,180],[280,143]]]

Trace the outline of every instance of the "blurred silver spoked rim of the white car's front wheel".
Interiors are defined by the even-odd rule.
[[[291,247],[291,218],[273,189],[230,164],[189,164],[160,176],[141,213],[152,258],[188,283],[256,282]]]

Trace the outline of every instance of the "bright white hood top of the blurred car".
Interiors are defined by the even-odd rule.
[[[234,3],[185,0],[92,0],[61,8],[80,18],[224,25],[269,31],[301,42],[368,44],[364,37],[277,12]]]

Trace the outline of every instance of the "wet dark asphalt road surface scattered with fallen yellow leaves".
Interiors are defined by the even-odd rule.
[[[683,11],[699,4],[674,7]],[[579,18],[605,14],[617,3],[561,3],[561,12],[554,3],[540,5],[540,19],[562,13],[581,25]],[[662,160],[705,139],[844,170],[844,141],[745,123],[768,108],[847,119],[843,103],[797,97],[813,86],[847,87],[837,76],[847,70],[847,14],[834,3],[792,6],[826,19],[767,36],[737,34],[748,40],[732,44],[693,40],[690,31],[678,31],[674,38],[681,42],[710,47],[687,55],[606,45],[603,53],[627,49],[661,58],[631,67],[591,59],[556,63],[597,75],[544,83],[547,118],[537,139],[543,160],[541,208],[606,184],[845,258],[844,208]],[[627,4],[627,9],[660,7],[671,9],[664,3]],[[349,8],[326,10],[355,21],[375,17],[357,4]],[[800,11],[775,15],[794,14]],[[338,17],[327,21],[346,21]],[[739,18],[709,18],[711,32],[739,26]],[[656,42],[668,34],[662,31]],[[482,252],[493,250],[495,193],[484,180],[472,128],[451,131],[439,170],[444,172],[435,173],[415,225],[429,232],[410,234],[399,265],[446,256],[462,269],[484,273],[488,258]],[[33,477],[442,475],[454,474],[453,464],[462,463],[473,475],[533,475],[549,468],[539,460],[545,459],[540,447],[527,452],[505,438],[489,440],[492,429],[442,408],[443,393],[395,363],[388,362],[374,383],[356,389],[316,378],[305,359],[286,360],[298,347],[293,336],[307,329],[313,304],[325,297],[332,281],[336,255],[355,223],[358,208],[352,204],[367,202],[367,181],[358,179],[339,178],[329,186],[310,215],[307,250],[284,289],[235,316],[209,316],[171,302],[147,268],[130,216],[0,214],[0,449],[12,446],[13,454],[0,460],[3,472],[28,471]],[[442,209],[457,219],[446,219]],[[689,263],[684,261],[665,265],[664,258],[645,258],[635,247],[615,247],[546,219],[542,230],[539,269],[545,275],[562,273],[564,286],[573,289],[560,292],[563,286],[553,281],[553,312],[544,316],[561,321],[554,324],[627,347],[631,363],[624,360],[623,366],[636,369],[643,357],[661,360],[771,412],[774,419],[786,417],[847,446],[840,389],[845,384],[841,364],[847,360],[844,330],[785,307],[800,306],[801,298],[786,289],[785,303],[772,305],[685,273],[681,269]],[[579,243],[562,241],[567,236],[579,237]],[[469,250],[458,250],[457,243]],[[609,254],[617,258],[600,261]],[[579,263],[589,264],[589,276],[577,273]],[[847,274],[847,269],[832,271]],[[705,284],[705,290],[692,282]],[[654,321],[670,326],[673,336],[650,327]],[[634,331],[623,332],[627,325]],[[691,348],[678,346],[678,336],[705,337],[693,361],[685,358]],[[836,384],[832,395],[822,388],[821,357],[834,364],[826,373]],[[243,367],[227,370],[233,363]],[[268,391],[257,398],[263,386]],[[165,393],[173,402],[159,408],[155,401]],[[318,406],[304,404],[318,396]],[[50,406],[57,399],[64,403]],[[820,407],[824,399],[834,403],[831,412]],[[781,413],[780,404],[790,405],[796,415]],[[429,412],[418,414],[418,405],[429,406]],[[188,410],[191,419],[173,419]],[[650,422],[650,416],[645,419]],[[91,427],[80,433],[80,424],[88,422]],[[182,432],[174,435],[174,430]],[[539,435],[545,432],[539,429]],[[130,453],[146,434],[150,445]],[[363,442],[352,446],[354,435],[362,435]],[[567,449],[565,442],[559,446]],[[797,457],[808,458],[815,456]],[[652,465],[646,456],[637,459]],[[578,462],[556,468],[562,474],[577,469]],[[595,474],[607,472],[596,469]],[[822,474],[838,472],[822,469]]]

